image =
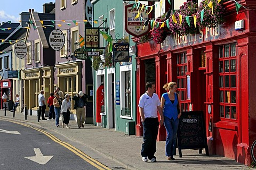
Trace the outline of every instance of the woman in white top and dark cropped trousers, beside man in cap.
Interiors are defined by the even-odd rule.
[[[70,95],[67,94],[65,95],[65,99],[62,101],[62,105],[60,108],[60,113],[62,113],[64,118],[64,121],[62,123],[62,128],[63,128],[63,125],[66,124],[66,128],[69,129],[68,123],[70,120],[70,112],[69,112],[70,108],[71,108]]]

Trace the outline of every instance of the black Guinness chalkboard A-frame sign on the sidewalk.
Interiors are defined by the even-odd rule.
[[[200,154],[202,148],[205,148],[206,155],[209,155],[203,111],[182,112],[177,138],[180,157],[182,157],[181,149],[195,148],[199,148]]]

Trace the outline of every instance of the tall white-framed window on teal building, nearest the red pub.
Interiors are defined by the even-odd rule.
[[[121,103],[121,117],[132,117],[132,111],[131,111],[131,104],[132,104],[132,97],[131,97],[131,66],[121,66],[121,78],[120,78],[120,90],[121,90],[121,96],[120,96],[120,103]]]

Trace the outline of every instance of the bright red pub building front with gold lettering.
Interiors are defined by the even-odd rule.
[[[147,81],[156,82],[159,98],[166,82],[177,82],[182,111],[204,111],[210,154],[250,165],[256,139],[256,1],[237,2],[246,8],[237,14],[235,2],[224,3],[226,22],[216,28],[169,36],[161,45],[137,44],[137,106]],[[143,135],[139,109],[136,132]],[[162,126],[158,140],[165,139]]]

